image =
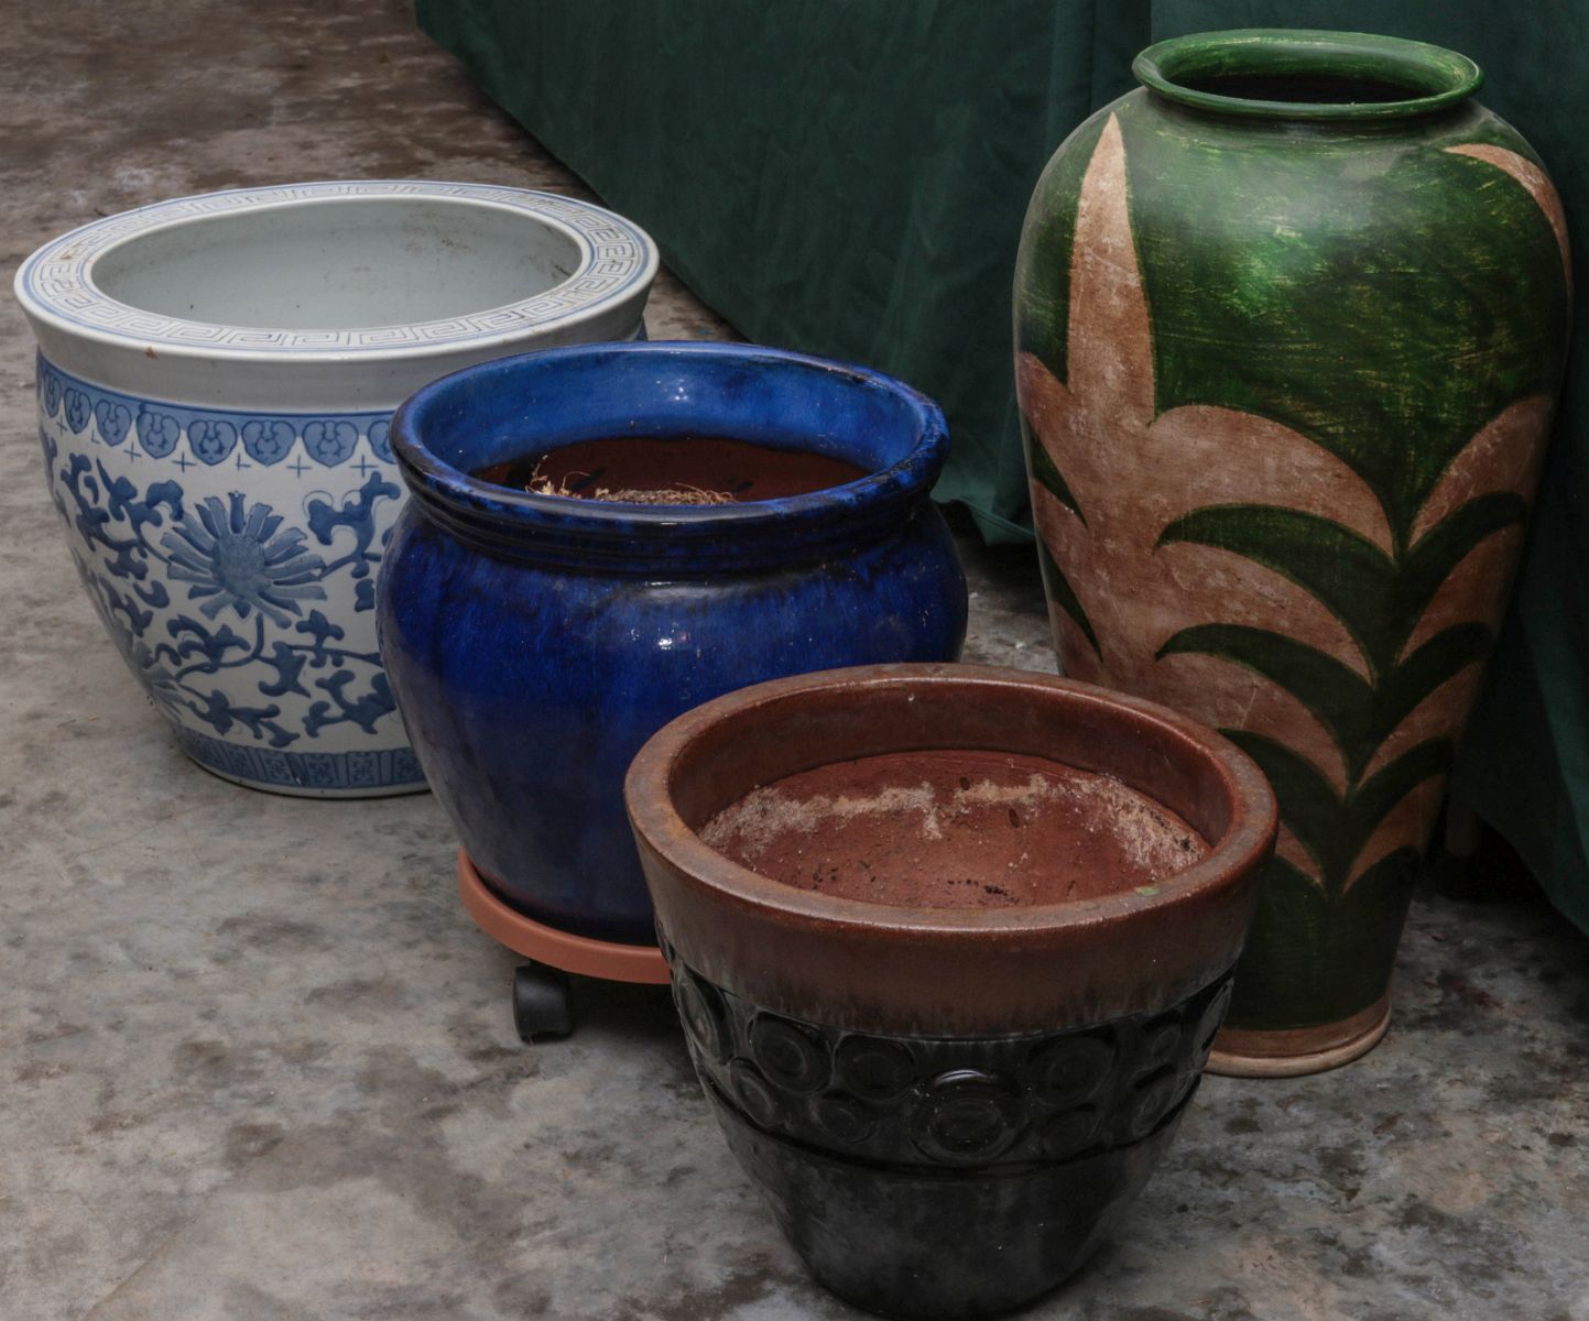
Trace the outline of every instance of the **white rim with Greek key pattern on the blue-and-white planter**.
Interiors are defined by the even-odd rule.
[[[129,245],[192,225],[224,225],[245,214],[289,213],[372,202],[472,208],[535,224],[567,245],[569,272],[521,298],[456,314],[343,327],[272,327],[207,321],[113,297],[99,275]],[[656,245],[632,221],[572,197],[447,179],[324,179],[173,197],[68,230],[17,268],[14,292],[29,318],[59,335],[132,348],[151,360],[200,357],[343,370],[394,357],[439,359],[489,352],[526,337],[575,333],[634,303],[656,276]]]

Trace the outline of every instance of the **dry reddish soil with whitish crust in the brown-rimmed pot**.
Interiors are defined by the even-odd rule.
[[[1208,853],[1185,819],[1114,776],[969,749],[790,775],[718,811],[701,837],[783,884],[926,908],[1096,899]]]

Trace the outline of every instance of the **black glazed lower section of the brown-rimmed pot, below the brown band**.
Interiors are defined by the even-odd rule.
[[[993,1316],[1074,1272],[1170,1145],[1230,1003],[1225,975],[1081,1030],[863,1035],[664,953],[734,1154],[810,1272],[890,1316]]]

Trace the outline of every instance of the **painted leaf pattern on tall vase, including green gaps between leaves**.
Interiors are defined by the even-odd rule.
[[[1522,184],[1565,262],[1538,167],[1489,144],[1448,151]],[[1551,399],[1502,408],[1397,527],[1363,475],[1298,430],[1224,406],[1158,411],[1128,203],[1109,114],[1074,218],[1066,379],[1017,359],[1065,670],[1220,727],[1274,783],[1276,868],[1346,895],[1427,843]]]

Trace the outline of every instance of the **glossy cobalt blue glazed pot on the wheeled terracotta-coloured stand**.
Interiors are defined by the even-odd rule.
[[[683,435],[866,476],[651,506],[469,475]],[[928,499],[949,438],[938,406],[887,376],[742,345],[555,349],[427,386],[392,445],[413,495],[378,592],[392,692],[469,857],[547,927],[655,942],[623,773],[680,711],[777,675],[960,654],[965,578]]]

